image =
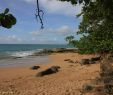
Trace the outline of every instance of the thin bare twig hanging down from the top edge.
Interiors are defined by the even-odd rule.
[[[37,9],[36,9],[36,20],[37,22],[40,20],[40,24],[41,24],[41,29],[44,28],[44,24],[43,24],[43,15],[44,15],[44,12],[43,10],[40,9],[39,7],[39,1],[37,0]]]

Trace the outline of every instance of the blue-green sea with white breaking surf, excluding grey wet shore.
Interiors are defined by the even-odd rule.
[[[11,56],[28,56],[42,49],[52,48],[70,48],[70,46],[59,44],[0,44],[0,59]]]

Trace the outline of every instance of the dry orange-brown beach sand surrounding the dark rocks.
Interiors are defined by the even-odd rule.
[[[54,53],[49,55],[50,63],[38,64],[41,67],[38,70],[31,70],[29,66],[0,68],[0,95],[81,95],[82,85],[99,75],[99,64],[81,66],[64,60],[80,61],[92,56]],[[51,66],[61,68],[58,73],[35,77],[38,72]]]

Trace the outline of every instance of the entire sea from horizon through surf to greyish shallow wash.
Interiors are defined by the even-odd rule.
[[[15,67],[48,63],[45,56],[30,56],[43,49],[72,48],[65,44],[0,44],[0,67]]]

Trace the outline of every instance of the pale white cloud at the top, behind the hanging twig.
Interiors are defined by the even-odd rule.
[[[27,3],[36,4],[36,0],[24,0]],[[61,2],[58,0],[40,0],[40,7],[45,11],[53,14],[63,14],[67,16],[75,16],[81,12],[82,5],[73,6],[70,2]]]

